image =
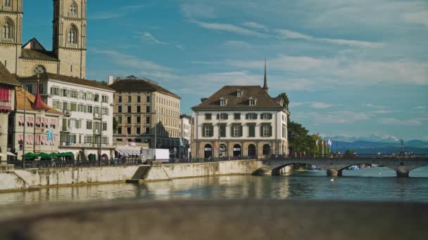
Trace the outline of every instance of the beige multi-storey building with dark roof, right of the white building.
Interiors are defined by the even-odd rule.
[[[146,142],[149,147],[180,146],[180,97],[149,79],[127,76],[110,87],[115,90],[114,117],[118,128],[114,142]],[[156,131],[156,132],[155,132]],[[156,134],[155,134],[156,133]]]

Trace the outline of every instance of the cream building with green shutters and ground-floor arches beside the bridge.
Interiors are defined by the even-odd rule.
[[[224,86],[194,110],[192,157],[288,154],[287,109],[260,86]]]

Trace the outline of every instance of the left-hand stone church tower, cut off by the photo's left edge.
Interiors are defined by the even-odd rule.
[[[0,0],[0,62],[18,72],[23,36],[23,0]]]

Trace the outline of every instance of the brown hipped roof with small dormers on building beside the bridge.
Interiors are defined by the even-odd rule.
[[[237,90],[242,96],[237,96]],[[225,98],[227,104],[220,106],[220,98]],[[249,99],[256,99],[256,105],[250,106]],[[260,86],[224,86],[219,91],[206,98],[201,104],[192,107],[193,110],[203,109],[282,109],[273,98]]]

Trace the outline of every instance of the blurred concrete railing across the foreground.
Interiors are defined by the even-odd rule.
[[[212,200],[6,208],[0,239],[427,239],[428,204]]]

